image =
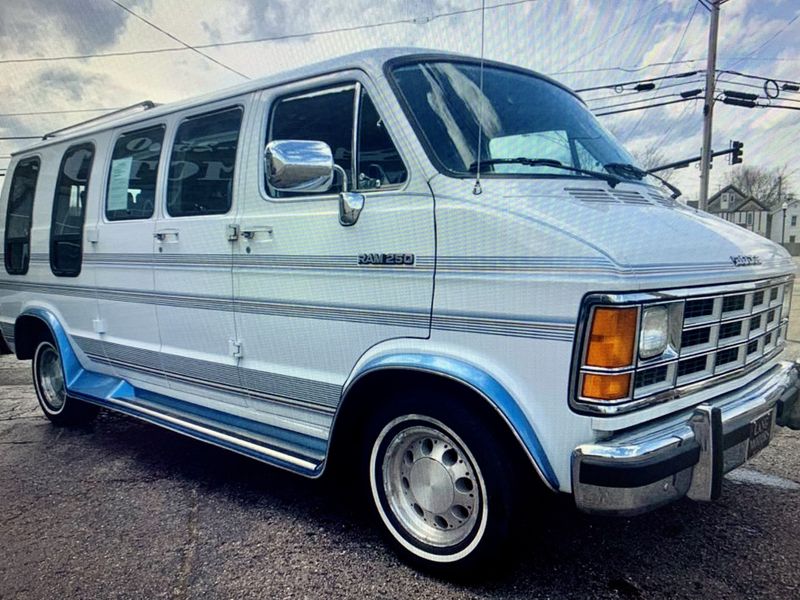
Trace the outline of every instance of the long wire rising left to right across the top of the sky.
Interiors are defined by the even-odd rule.
[[[111,0],[112,2],[114,0]],[[500,8],[507,8],[510,6],[518,6],[520,4],[530,4],[533,2],[538,2],[538,0],[511,0],[510,2],[503,2],[499,4],[493,4],[486,7],[486,10],[496,10]],[[662,2],[663,4],[663,2]],[[126,9],[127,10],[127,9]],[[228,42],[212,42],[208,44],[194,44],[189,46],[186,44],[184,47],[181,48],[152,48],[149,50],[142,49],[142,50],[123,50],[118,52],[97,52],[91,54],[72,54],[72,55],[65,55],[65,56],[37,56],[37,57],[30,57],[30,58],[7,58],[1,59],[0,64],[9,64],[9,63],[35,63],[35,62],[53,62],[53,61],[63,61],[63,60],[85,60],[89,58],[114,58],[114,57],[123,57],[123,56],[136,56],[139,54],[164,54],[169,52],[186,52],[187,50],[205,50],[209,48],[227,48],[230,46],[242,46],[247,44],[260,44],[264,42],[277,42],[283,40],[291,40],[291,39],[298,39],[298,38],[305,38],[305,37],[313,37],[317,35],[330,35],[335,33],[349,33],[351,31],[361,31],[365,29],[377,29],[382,27],[391,27],[394,25],[426,25],[432,21],[437,19],[444,19],[449,17],[455,17],[459,15],[466,15],[471,13],[479,12],[480,8],[468,8],[462,10],[454,10],[450,12],[444,13],[437,13],[434,15],[430,15],[427,17],[412,17],[412,18],[405,18],[405,19],[395,19],[393,21],[383,21],[379,23],[370,23],[367,25],[351,25],[347,27],[336,27],[332,29],[320,29],[317,31],[306,31],[302,33],[288,33],[283,35],[274,35],[274,36],[267,36],[261,38],[253,38],[249,40],[231,40]],[[135,15],[138,17],[138,15]],[[141,18],[141,17],[139,17]],[[167,34],[169,35],[169,34]],[[184,42],[180,42],[184,44]]]

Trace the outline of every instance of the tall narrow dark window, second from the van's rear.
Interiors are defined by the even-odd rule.
[[[50,223],[50,268],[59,277],[77,277],[83,259],[86,192],[94,159],[93,144],[71,146],[64,153]]]

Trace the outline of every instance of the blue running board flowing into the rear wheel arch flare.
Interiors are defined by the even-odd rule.
[[[64,328],[54,315],[49,311],[39,308],[26,310],[23,315],[38,317],[49,326],[56,344],[59,347],[61,364],[64,369],[64,379],[70,395],[302,475],[316,477],[321,473],[322,460],[327,449],[327,440],[311,438],[303,434],[272,427],[263,423],[257,423],[214,409],[193,405],[147,390],[141,390],[132,386],[124,379],[89,371],[81,365]],[[151,410],[156,409],[165,416],[179,416],[187,422],[194,422],[206,427],[212,427],[220,433],[244,441],[250,441],[257,445],[260,444],[264,447],[267,447],[267,445],[258,438],[269,437],[271,438],[270,447],[305,461],[316,461],[317,467],[315,469],[305,469],[279,459],[273,459],[259,452],[248,450],[247,448],[235,444],[228,444],[215,437],[206,436],[197,431],[192,431],[180,425],[176,425],[175,423],[159,419],[157,416],[143,416],[142,413],[137,412],[135,409],[128,409],[115,404],[114,400],[122,400],[130,404],[140,405],[143,408],[150,408]],[[192,417],[195,419],[192,420]],[[250,434],[250,436],[242,435],[242,433],[239,432],[232,432],[231,430],[233,429],[237,429],[245,434]],[[302,449],[303,452],[300,452],[300,449]]]

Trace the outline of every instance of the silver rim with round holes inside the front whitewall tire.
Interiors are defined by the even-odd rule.
[[[442,423],[408,415],[383,430],[375,450],[382,447],[386,508],[404,537],[432,550],[469,545],[485,525],[486,495],[466,445]]]

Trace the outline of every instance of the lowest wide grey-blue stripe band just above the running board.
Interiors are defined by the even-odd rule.
[[[73,340],[97,363],[151,375],[161,375],[163,369],[163,374],[170,379],[242,398],[252,396],[332,415],[341,397],[341,386],[322,381],[240,369],[235,365],[221,365],[78,336],[73,337]],[[242,385],[243,380],[247,387]]]

